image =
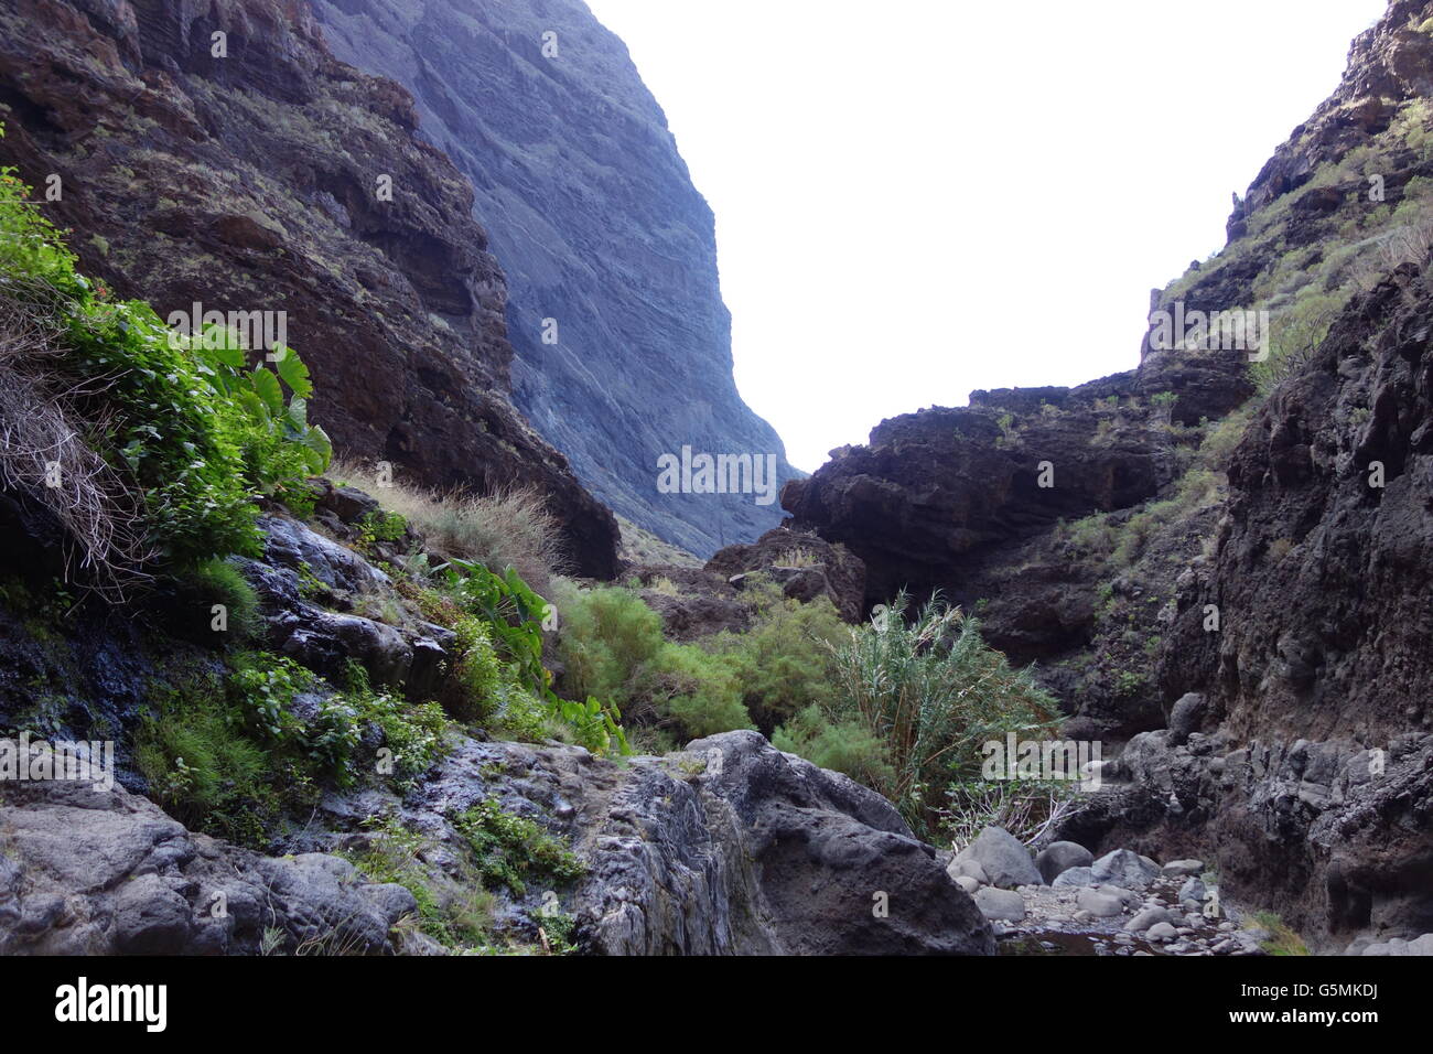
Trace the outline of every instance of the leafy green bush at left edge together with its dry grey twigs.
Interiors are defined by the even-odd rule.
[[[274,370],[249,370],[228,334],[179,337],[148,304],[112,301],[29,196],[0,169],[6,482],[56,515],[79,564],[118,595],[156,559],[254,554],[254,496],[302,508],[304,478],[328,463],[302,361],[278,347]],[[40,455],[59,463],[62,488],[36,486]]]

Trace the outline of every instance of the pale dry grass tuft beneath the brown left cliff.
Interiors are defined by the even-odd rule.
[[[477,496],[434,493],[400,479],[380,486],[367,466],[338,460],[328,476],[373,495],[384,509],[397,512],[427,539],[430,549],[476,561],[499,574],[507,566],[516,568],[539,594],[546,595],[552,576],[566,569],[557,521],[533,488]]]

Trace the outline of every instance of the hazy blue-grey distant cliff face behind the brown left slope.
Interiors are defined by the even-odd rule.
[[[420,133],[473,181],[517,404],[583,483],[701,556],[775,526],[751,493],[658,490],[656,459],[684,446],[771,455],[777,489],[795,473],[737,391],[712,214],[622,42],[580,0],[314,11],[340,57],[413,92]]]

